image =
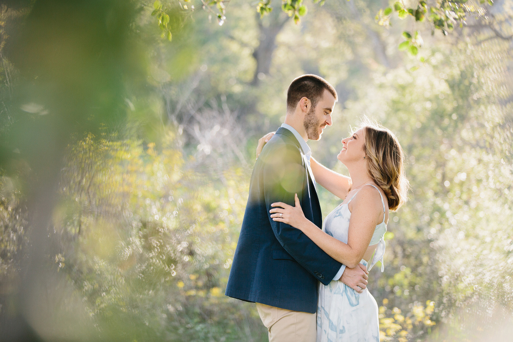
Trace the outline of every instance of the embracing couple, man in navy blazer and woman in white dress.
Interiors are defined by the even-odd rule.
[[[295,79],[285,123],[257,148],[226,295],[256,303],[269,341],[379,342],[367,274],[379,260],[383,271],[388,212],[406,199],[403,153],[392,132],[364,123],[337,156],[350,177],[317,162],[306,142],[321,139],[336,102],[321,77]],[[344,199],[324,224],[317,184]]]

